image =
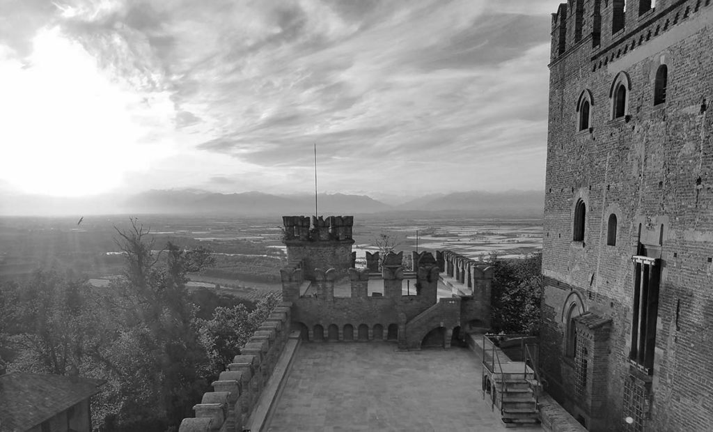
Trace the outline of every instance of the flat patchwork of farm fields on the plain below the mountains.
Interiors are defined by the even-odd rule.
[[[142,215],[150,228],[155,253],[167,242],[185,248],[203,246],[215,254],[215,266],[192,274],[190,289],[211,288],[256,299],[279,291],[279,268],[287,261],[280,218],[230,218]],[[23,281],[38,269],[55,268],[107,286],[120,275],[123,253],[118,230],[130,227],[128,216],[78,218],[0,218],[0,281]],[[381,236],[396,251],[451,249],[473,259],[518,258],[540,250],[540,219],[494,219],[429,214],[357,216],[354,251],[357,266],[366,251],[378,251]],[[408,258],[407,258],[408,259]]]

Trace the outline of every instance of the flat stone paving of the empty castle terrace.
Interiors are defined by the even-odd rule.
[[[465,348],[302,343],[265,430],[505,431],[480,383],[480,358]]]

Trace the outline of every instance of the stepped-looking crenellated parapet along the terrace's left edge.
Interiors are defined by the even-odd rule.
[[[289,336],[292,303],[275,308],[240,349],[233,363],[212,382],[193,407],[195,418],[184,418],[179,432],[242,431],[270,379]],[[237,348],[236,348],[237,351]]]

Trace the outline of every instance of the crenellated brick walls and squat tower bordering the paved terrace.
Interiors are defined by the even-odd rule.
[[[220,373],[180,432],[267,427],[303,342],[448,349],[472,344],[467,333],[490,326],[493,269],[486,263],[451,251],[435,257],[413,252],[414,269],[407,271],[403,253],[380,259],[376,252],[367,253],[366,268],[355,268],[352,216],[284,216],[283,223],[288,265],[280,271],[282,305]],[[468,383],[473,394],[480,393],[478,384]],[[528,403],[536,417],[535,401]]]

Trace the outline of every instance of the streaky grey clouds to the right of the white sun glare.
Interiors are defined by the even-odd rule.
[[[296,187],[317,142],[337,190],[397,191],[392,176],[431,191],[504,189],[543,179],[543,164],[519,165],[545,154],[548,14],[558,3],[14,1],[14,28],[27,25],[0,30],[0,43],[28,56],[31,37],[56,26],[81,44],[138,96],[137,143],[169,149],[152,167],[200,163],[196,185],[240,188],[232,179],[251,172],[261,174],[252,189]],[[207,161],[219,160],[231,164],[217,174]]]

